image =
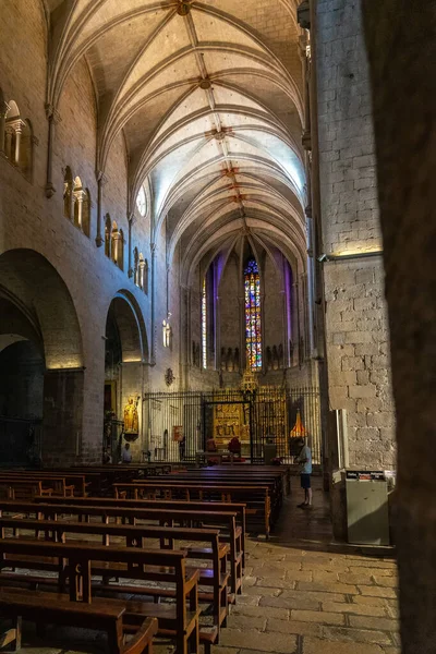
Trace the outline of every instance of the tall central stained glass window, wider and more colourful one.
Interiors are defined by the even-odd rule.
[[[244,270],[246,367],[262,368],[261,278],[254,258]]]

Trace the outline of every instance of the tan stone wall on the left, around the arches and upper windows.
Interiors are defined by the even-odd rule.
[[[123,135],[120,133],[109,152],[102,187],[102,215],[109,213],[123,229],[124,270],[120,270],[108,257],[104,247],[95,243],[97,220],[97,182],[95,175],[97,124],[93,81],[87,66],[82,62],[71,71],[63,88],[58,109],[58,122],[53,141],[53,185],[56,193],[47,198],[46,164],[48,152],[48,121],[45,112],[47,75],[47,29],[40,3],[17,0],[2,7],[0,23],[0,86],[7,100],[14,99],[22,116],[32,121],[37,142],[33,182],[0,157],[0,262],[4,253],[25,250],[37,253],[35,269],[22,275],[20,280],[14,270],[4,265],[1,268],[0,286],[19,294],[31,313],[41,310],[38,302],[50,303],[50,298],[34,296],[32,281],[44,280],[48,270],[56,271],[64,288],[63,299],[72,303],[77,317],[77,350],[81,350],[81,367],[84,370],[70,378],[62,368],[64,331],[58,329],[59,343],[56,353],[57,368],[50,379],[46,379],[46,415],[50,421],[53,443],[59,429],[63,431],[69,446],[63,452],[56,453],[55,463],[68,463],[77,460],[99,461],[102,435],[102,388],[105,382],[105,334],[106,319],[112,299],[123,293],[135,307],[138,320],[144,323],[148,343],[152,339],[150,293],[146,295],[134,284],[128,275],[128,161]],[[17,16],[25,16],[20,21]],[[25,47],[16,47],[25,44]],[[78,174],[89,189],[92,199],[90,238],[82,233],[63,215],[63,175],[66,166]],[[138,217],[137,217],[138,218]],[[137,219],[133,227],[132,246],[138,246],[148,258],[150,268],[149,217]],[[133,249],[132,247],[132,249]],[[27,257],[27,254],[17,255]],[[39,257],[39,258],[38,258]],[[133,375],[132,388],[143,384],[150,387],[167,388],[164,374],[167,367],[178,377],[179,332],[173,331],[172,350],[161,347],[161,322],[167,314],[167,267],[165,228],[157,243],[156,270],[156,365],[141,374]],[[15,262],[16,264],[16,262]],[[14,265],[15,265],[14,264]],[[15,276],[15,277],[14,277]],[[149,272],[150,279],[150,272]],[[12,284],[13,282],[13,284]],[[173,324],[179,323],[180,296],[178,293],[179,257],[170,270],[169,284],[173,289],[169,302]],[[11,286],[12,284],[12,286]],[[35,286],[35,284],[34,284]],[[44,281],[40,282],[44,288]],[[149,284],[150,286],[150,284]],[[32,291],[32,292],[31,292]],[[70,298],[70,300],[68,300]],[[34,300],[34,302],[33,302]],[[34,305],[35,304],[35,305]],[[50,319],[62,325],[65,316],[62,303],[51,299]],[[160,324],[159,324],[160,323]],[[44,339],[43,329],[43,339]],[[50,338],[56,334],[51,330]],[[56,341],[56,338],[55,338]],[[56,349],[56,342],[52,347]],[[144,351],[146,358],[146,352]],[[141,382],[141,384],[140,384]],[[178,382],[178,379],[177,379]],[[73,388],[69,398],[74,405],[66,405],[64,389]],[[50,404],[51,403],[51,404]],[[49,404],[52,409],[49,410]],[[62,409],[63,407],[63,409]],[[48,432],[47,432],[48,433]],[[56,436],[58,434],[58,436]],[[59,441],[61,445],[61,441]]]

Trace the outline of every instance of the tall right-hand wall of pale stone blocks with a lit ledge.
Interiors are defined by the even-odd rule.
[[[348,412],[350,465],[395,467],[368,68],[358,0],[316,12],[319,178],[329,402]],[[339,258],[347,255],[347,258]]]

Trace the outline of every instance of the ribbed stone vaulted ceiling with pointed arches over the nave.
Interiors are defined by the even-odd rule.
[[[305,250],[295,0],[46,0],[49,101],[85,57],[100,170],[122,130],[131,203],[186,270],[239,233]],[[253,237],[254,238],[254,237]]]

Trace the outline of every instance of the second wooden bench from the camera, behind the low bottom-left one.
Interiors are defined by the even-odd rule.
[[[57,572],[58,591],[62,593],[68,585],[70,601],[85,604],[94,602],[92,577],[172,583],[177,590],[175,604],[126,601],[124,625],[137,629],[145,618],[157,618],[159,633],[174,638],[180,654],[198,652],[198,572],[186,573],[185,552],[0,538],[0,584],[33,583],[32,574],[5,573],[5,568]],[[37,581],[50,584],[46,578],[39,577]],[[106,591],[120,592],[120,588],[105,584]],[[146,595],[147,586],[130,588]],[[112,602],[105,600],[108,605]]]

